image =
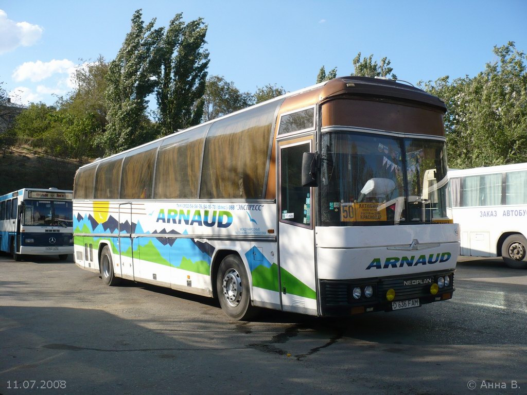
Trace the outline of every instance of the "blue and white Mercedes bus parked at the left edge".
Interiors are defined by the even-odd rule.
[[[0,196],[0,251],[13,255],[73,254],[73,191],[24,188]]]

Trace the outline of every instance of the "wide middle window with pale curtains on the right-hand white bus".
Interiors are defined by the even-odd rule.
[[[462,206],[472,207],[500,205],[501,184],[501,173],[464,177]]]

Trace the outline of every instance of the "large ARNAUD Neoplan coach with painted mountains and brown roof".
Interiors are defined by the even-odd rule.
[[[234,319],[451,299],[445,110],[336,78],[97,160],[75,176],[75,263],[218,298]]]

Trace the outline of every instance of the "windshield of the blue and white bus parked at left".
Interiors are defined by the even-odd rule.
[[[51,200],[24,201],[22,225],[72,226],[73,209],[71,202]]]

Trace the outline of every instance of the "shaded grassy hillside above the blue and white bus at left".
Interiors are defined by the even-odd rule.
[[[0,195],[21,188],[73,189],[81,164],[47,157],[0,151]]]

